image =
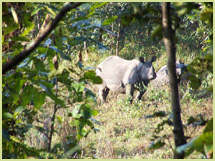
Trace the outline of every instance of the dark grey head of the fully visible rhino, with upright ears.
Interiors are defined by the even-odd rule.
[[[156,78],[156,73],[152,62],[156,61],[156,56],[153,56],[151,60],[145,62],[143,57],[140,57],[141,65],[138,69],[139,76],[143,81],[150,81]]]

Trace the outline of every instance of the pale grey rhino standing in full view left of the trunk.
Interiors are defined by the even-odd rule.
[[[101,102],[106,102],[109,91],[120,92],[125,90],[130,96],[130,102],[133,100],[135,84],[139,84],[137,98],[141,100],[145,93],[143,86],[147,86],[150,80],[156,78],[156,73],[152,62],[156,60],[153,56],[150,61],[145,62],[143,57],[139,60],[125,60],[118,56],[110,56],[101,62],[96,69],[96,75],[103,80],[99,87],[99,97]],[[144,84],[144,85],[143,85]]]

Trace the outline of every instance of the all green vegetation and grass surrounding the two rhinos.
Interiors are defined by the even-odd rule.
[[[174,146],[168,85],[149,86],[133,104],[116,93],[97,99],[95,67],[110,55],[156,55],[155,70],[166,65],[161,6],[3,3],[2,158],[212,158],[212,3],[171,3],[176,57],[191,73],[179,86],[187,144]]]

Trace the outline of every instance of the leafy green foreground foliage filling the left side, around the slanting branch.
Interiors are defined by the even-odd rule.
[[[32,3],[22,4],[23,9],[27,11],[26,13],[13,9],[18,8],[19,3],[3,4],[3,46],[5,46],[3,63],[24,49],[21,42],[27,41],[26,43],[28,44],[32,35],[38,33],[40,28],[36,28],[35,23],[41,25],[45,21],[44,15],[47,14],[55,17],[62,5],[59,3],[33,4],[35,5],[32,5]],[[90,12],[94,12],[96,8],[102,5],[105,5],[105,3],[91,4]],[[90,118],[97,114],[97,111],[92,108],[95,106],[96,98],[93,92],[85,87],[85,84],[89,84],[89,82],[98,84],[101,83],[101,79],[95,76],[94,71],[65,65],[66,61],[74,59],[70,55],[73,55],[75,52],[71,53],[70,49],[83,43],[83,41],[76,41],[77,39],[74,36],[79,31],[77,28],[82,25],[80,23],[82,20],[71,16],[75,15],[74,12],[72,11],[68,15],[72,17],[70,21],[73,24],[76,23],[73,28],[69,27],[70,23],[65,27],[65,24],[68,23],[66,23],[67,19],[64,19],[60,24],[62,28],[60,26],[57,27],[31,56],[26,58],[16,69],[7,72],[3,76],[2,123],[3,143],[5,144],[3,158],[43,158],[46,154],[48,158],[59,157],[58,154],[43,154],[41,152],[44,152],[44,150],[30,148],[24,143],[26,133],[32,128],[37,128],[40,132],[43,131],[44,133],[45,130],[42,127],[36,127],[33,122],[37,113],[43,110],[44,104],[49,99],[57,107],[56,111],[60,108],[68,108],[68,105],[74,106],[72,115],[69,117],[74,119],[71,122],[71,126],[77,127],[76,141],[73,140],[71,145],[68,146],[69,149],[64,150],[74,149],[78,141],[82,137],[86,137],[91,129],[94,129]],[[91,16],[88,18],[91,18]],[[20,26],[22,27],[21,29]],[[62,32],[63,29],[65,29],[65,32]],[[71,34],[67,34],[68,32]],[[9,33],[16,34],[17,36]],[[74,41],[71,41],[72,38]],[[97,43],[94,40],[93,42]],[[53,62],[55,57],[56,60]],[[73,60],[73,62],[75,61]],[[57,63],[57,66],[55,63]],[[55,118],[55,113],[50,117]],[[57,116],[57,119],[61,123],[63,122],[60,116]],[[46,135],[51,135],[50,132],[48,131]],[[53,146],[50,152],[52,151],[55,151],[55,146]],[[70,155],[67,155],[67,157],[72,156],[76,151],[77,149],[70,153]]]

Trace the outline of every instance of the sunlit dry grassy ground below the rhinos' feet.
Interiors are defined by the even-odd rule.
[[[96,87],[93,87],[97,92]],[[184,133],[190,141],[199,136],[205,126],[198,126],[203,120],[213,117],[212,94],[203,98],[199,93],[190,94],[189,89],[180,87],[181,117]],[[164,124],[160,132],[155,130],[165,120],[171,120],[171,104],[168,87],[148,91],[139,103],[129,104],[123,94],[109,93],[107,102],[98,106],[98,115],[93,118],[96,133],[91,132],[81,141],[84,157],[101,159],[167,159],[173,158],[173,127]],[[165,112],[164,117],[151,117],[155,112]],[[195,123],[189,124],[191,120]],[[165,143],[159,149],[152,149],[153,136],[157,145],[159,140]],[[194,152],[188,158],[201,158],[200,153]]]

